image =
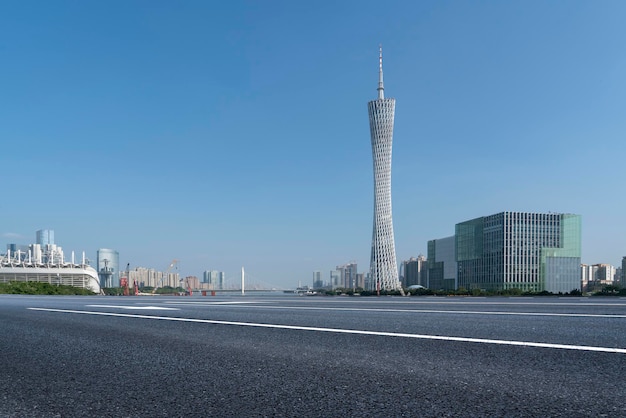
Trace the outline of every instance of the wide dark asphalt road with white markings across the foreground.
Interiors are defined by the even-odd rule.
[[[1,417],[626,417],[626,299],[0,295]]]

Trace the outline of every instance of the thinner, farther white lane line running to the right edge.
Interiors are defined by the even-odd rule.
[[[201,304],[202,302],[165,302],[169,305],[187,305],[189,303]],[[625,315],[613,314],[579,314],[579,313],[548,313],[548,312],[498,312],[498,311],[455,311],[434,309],[385,309],[385,308],[322,308],[317,306],[242,306],[245,308],[263,309],[290,309],[310,311],[358,311],[358,312],[394,312],[394,313],[445,313],[445,314],[475,314],[475,315],[519,315],[519,316],[570,316],[585,318],[626,318]]]

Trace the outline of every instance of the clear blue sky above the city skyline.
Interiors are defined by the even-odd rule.
[[[626,255],[624,1],[7,1],[0,248],[293,287],[369,268],[367,102],[396,99],[398,262],[457,222],[582,215]]]

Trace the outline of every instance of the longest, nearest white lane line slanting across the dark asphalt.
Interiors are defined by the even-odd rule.
[[[76,311],[76,310],[70,310],[70,309],[51,309],[51,308],[27,308],[27,309],[30,309],[33,311],[73,313],[73,314],[83,314],[83,315],[117,316],[117,317],[123,317],[123,318],[138,318],[138,319],[157,319],[157,320],[163,320],[163,321],[194,322],[194,323],[200,323],[200,324],[237,325],[237,326],[242,326],[242,327],[288,329],[288,330],[297,330],[297,331],[332,332],[332,333],[338,333],[338,334],[374,335],[374,336],[381,336],[381,337],[415,338],[415,339],[422,339],[422,340],[515,345],[515,346],[523,346],[523,347],[556,348],[556,349],[562,349],[562,350],[599,351],[599,352],[604,352],[604,353],[626,354],[626,348],[595,347],[595,346],[587,346],[587,345],[550,344],[550,343],[536,343],[536,342],[529,342],[529,341],[492,340],[492,339],[485,339],[485,338],[449,337],[449,336],[443,336],[443,335],[406,334],[406,333],[401,333],[401,332],[363,331],[363,330],[356,330],[356,329],[341,329],[341,328],[304,327],[304,326],[297,326],[297,325],[261,324],[261,323],[254,323],[254,322],[216,321],[213,319],[175,318],[175,317],[154,316],[154,315]]]

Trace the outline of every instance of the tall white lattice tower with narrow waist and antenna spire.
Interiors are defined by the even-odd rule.
[[[380,48],[378,98],[367,103],[374,161],[374,229],[370,275],[376,289],[400,289],[391,217],[391,146],[395,99],[385,99],[383,48]]]

